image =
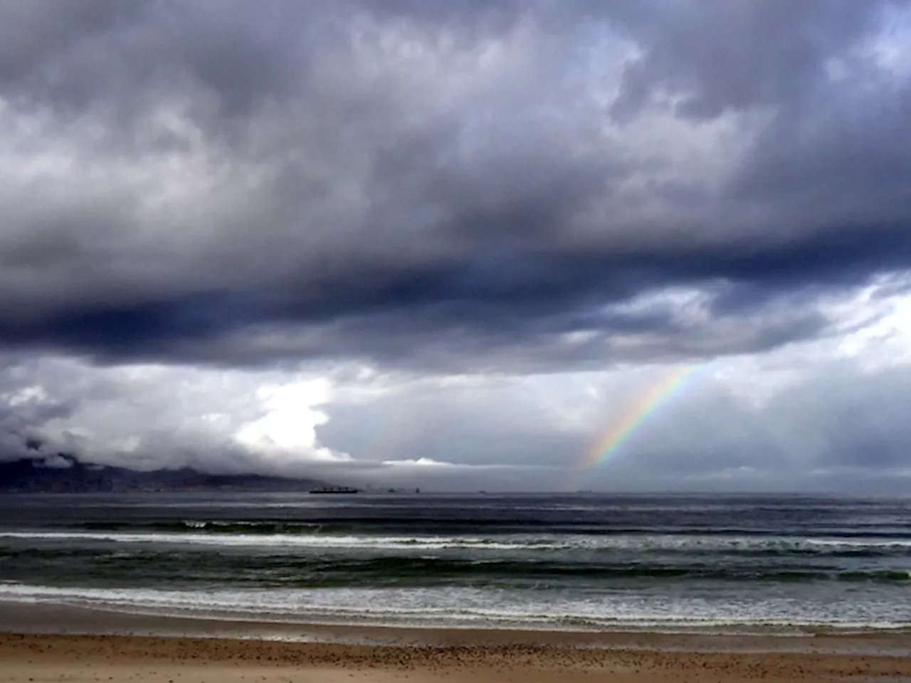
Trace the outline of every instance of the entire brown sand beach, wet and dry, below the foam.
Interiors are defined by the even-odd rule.
[[[911,635],[341,627],[0,602],[0,683],[911,680]]]

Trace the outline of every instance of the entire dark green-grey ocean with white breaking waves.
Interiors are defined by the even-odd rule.
[[[273,622],[911,628],[911,501],[0,496],[0,600]]]

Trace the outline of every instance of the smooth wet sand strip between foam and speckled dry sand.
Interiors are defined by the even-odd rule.
[[[0,636],[149,637],[334,644],[351,647],[527,646],[561,649],[895,656],[911,660],[911,633],[724,634],[660,630],[405,627],[153,616],[0,600]]]

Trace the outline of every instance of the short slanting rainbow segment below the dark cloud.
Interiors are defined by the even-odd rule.
[[[698,367],[694,365],[674,366],[666,372],[662,372],[657,382],[650,384],[641,392],[610,423],[609,428],[600,433],[595,443],[592,443],[589,450],[578,461],[576,471],[587,470],[616,454],[619,447],[626,443],[633,433],[636,433],[652,415],[666,405],[677,392],[680,392]]]

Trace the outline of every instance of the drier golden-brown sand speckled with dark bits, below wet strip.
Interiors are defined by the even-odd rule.
[[[441,634],[437,634],[440,636]],[[436,645],[349,645],[225,637],[0,636],[0,682],[142,681],[240,683],[240,681],[911,681],[911,658],[895,654],[682,649],[679,638],[652,637],[650,648],[573,645],[533,635],[523,642],[469,642],[452,633]],[[774,639],[773,639],[774,640]],[[780,640],[780,639],[779,639]],[[706,640],[701,641],[703,645]],[[710,641],[711,642],[711,639]],[[667,646],[660,647],[661,645]],[[770,644],[771,643],[767,643]]]

